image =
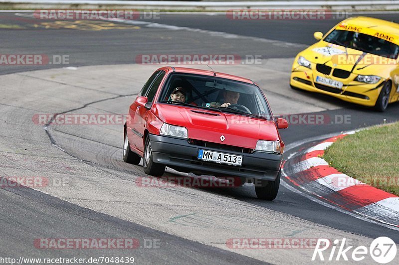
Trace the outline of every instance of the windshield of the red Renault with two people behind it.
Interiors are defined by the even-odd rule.
[[[260,88],[218,77],[171,74],[159,101],[272,119]]]

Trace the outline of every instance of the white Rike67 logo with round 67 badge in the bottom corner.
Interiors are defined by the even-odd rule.
[[[334,245],[331,247],[331,252],[328,255],[324,253],[327,261],[340,261],[342,258],[344,261],[348,261],[348,257],[356,262],[363,261],[366,256],[370,255],[373,260],[380,264],[386,264],[392,262],[397,253],[397,246],[395,242],[389,237],[379,237],[373,240],[370,248],[365,246],[359,246],[352,249],[354,246],[345,245],[346,238],[343,238],[340,242],[339,239],[334,240]],[[325,261],[323,252],[330,248],[330,240],[319,238],[317,240],[316,248],[313,252],[312,261]],[[337,250],[338,249],[338,250]],[[352,251],[352,254],[350,254]]]

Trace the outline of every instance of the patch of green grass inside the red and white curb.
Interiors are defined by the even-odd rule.
[[[324,159],[338,171],[399,195],[399,123],[374,126],[331,145]]]

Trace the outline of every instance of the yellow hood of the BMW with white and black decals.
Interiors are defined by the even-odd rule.
[[[359,75],[389,76],[398,62],[371,53],[320,41],[300,53],[314,64],[325,64]]]

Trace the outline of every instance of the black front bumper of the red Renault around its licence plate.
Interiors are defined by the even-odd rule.
[[[227,151],[189,144],[187,140],[150,134],[153,160],[180,172],[200,172],[216,177],[244,177],[275,180],[283,155]],[[200,149],[243,156],[242,166],[230,166],[197,159]]]

